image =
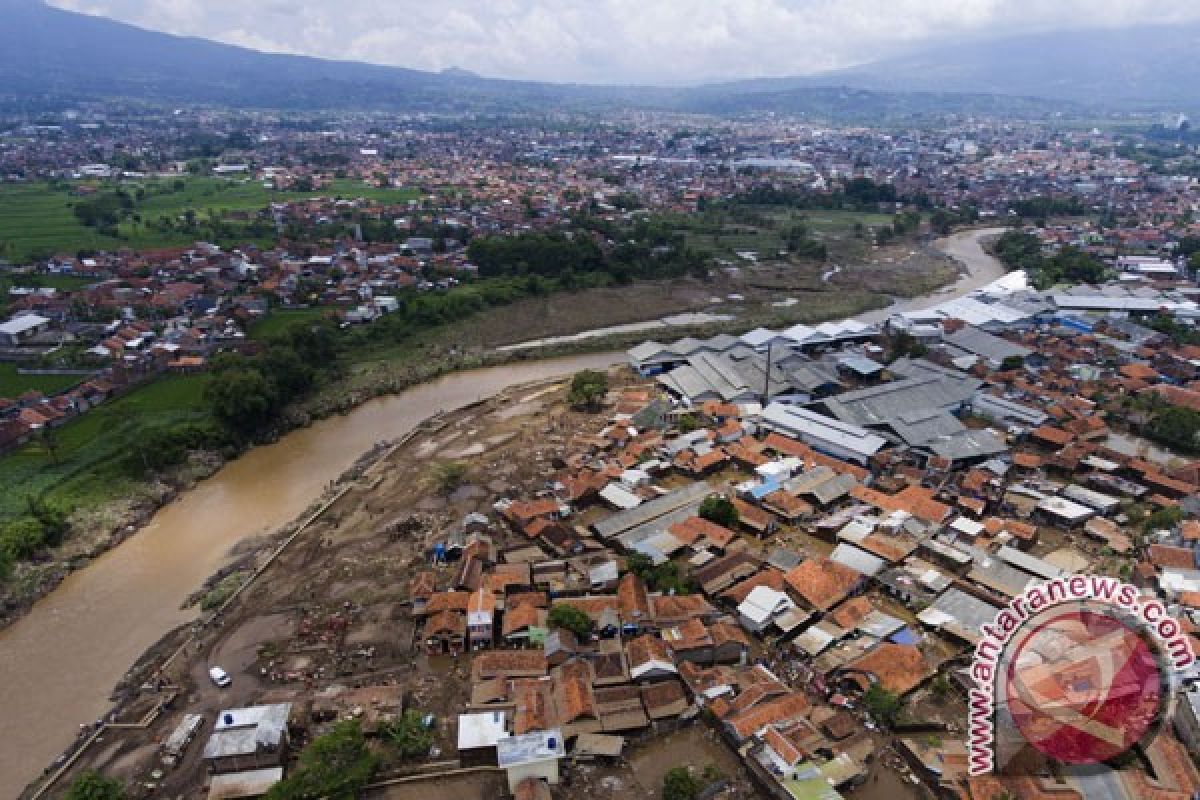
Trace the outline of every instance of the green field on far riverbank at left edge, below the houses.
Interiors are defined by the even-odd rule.
[[[0,519],[42,497],[62,507],[96,507],[127,494],[138,477],[124,463],[148,431],[209,419],[206,375],[169,375],[104,403],[56,428],[53,447],[31,441],[0,456]]]

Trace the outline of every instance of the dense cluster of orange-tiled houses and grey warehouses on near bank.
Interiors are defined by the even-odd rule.
[[[980,626],[1033,584],[1120,575],[1195,638],[1200,462],[1130,452],[1110,410],[1190,397],[1200,361],[1147,345],[1128,318],[1067,325],[1048,306],[1003,324],[931,317],[924,356],[890,361],[857,324],[634,348],[654,384],[623,391],[542,493],[500,501],[508,530],[466,521],[410,588],[427,651],[470,657],[461,730],[492,721],[480,757],[530,735],[619,753],[702,716],[779,796],[834,798],[878,746],[872,688],[914,704],[965,692]],[[713,495],[736,522],[701,516]],[[1164,509],[1162,528],[1141,524]],[[590,632],[556,622],[558,607]],[[1200,789],[1195,697],[1112,796]],[[1054,788],[968,776],[953,724],[894,745],[944,796]],[[1068,784],[1091,796],[1086,776]]]

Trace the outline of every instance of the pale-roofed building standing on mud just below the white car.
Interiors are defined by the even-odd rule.
[[[202,758],[215,774],[282,766],[290,703],[226,709],[217,714]]]

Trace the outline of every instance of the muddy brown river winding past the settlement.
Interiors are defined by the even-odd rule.
[[[970,275],[916,308],[965,294],[1003,269],[967,231],[940,246]],[[232,462],[154,516],[121,546],[70,576],[0,632],[0,796],[18,792],[71,744],[82,722],[108,711],[125,670],[167,631],[194,618],[180,604],[238,542],[300,515],[364,452],[437,410],[455,410],[522,383],[623,360],[604,353],[449,375],[295,431]]]

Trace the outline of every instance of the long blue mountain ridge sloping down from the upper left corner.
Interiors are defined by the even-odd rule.
[[[833,83],[848,83],[836,76]],[[865,79],[864,79],[865,80]],[[587,86],[480,78],[259,53],[149,31],[43,5],[0,0],[0,106],[54,108],[85,100],[284,109],[434,110],[654,108],[707,113],[913,116],[946,110],[1046,113],[1054,104],[986,95],[864,91],[829,79],[696,89]]]

